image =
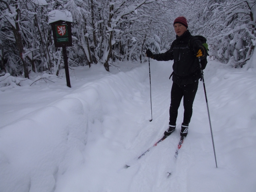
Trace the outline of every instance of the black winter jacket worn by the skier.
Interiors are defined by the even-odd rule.
[[[205,59],[207,50],[202,42],[187,30],[181,36],[176,35],[176,40],[173,41],[167,52],[154,54],[152,58],[157,61],[174,60],[173,82],[177,85],[187,85],[201,78],[199,60],[195,54],[199,48],[203,52],[201,59]]]

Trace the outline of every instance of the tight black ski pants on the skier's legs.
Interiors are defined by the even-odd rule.
[[[198,81],[188,85],[177,85],[173,83],[171,89],[170,125],[176,125],[178,109],[183,97],[184,116],[183,125],[189,125],[193,113],[193,102],[197,93]]]

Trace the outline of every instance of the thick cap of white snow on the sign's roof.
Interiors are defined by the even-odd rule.
[[[48,16],[49,16],[48,24],[59,21],[59,20],[73,22],[71,12],[67,10],[52,10],[49,12]]]

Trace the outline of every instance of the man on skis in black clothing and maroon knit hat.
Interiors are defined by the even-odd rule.
[[[187,136],[189,122],[193,112],[193,102],[197,92],[198,80],[201,78],[199,59],[207,57],[207,50],[202,42],[192,36],[187,30],[187,19],[184,16],[177,17],[173,22],[176,39],[171,48],[160,54],[152,54],[148,49],[146,56],[157,61],[173,62],[173,85],[171,89],[170,121],[165,136],[169,136],[176,128],[178,109],[183,97],[184,116],[181,124],[182,137]]]

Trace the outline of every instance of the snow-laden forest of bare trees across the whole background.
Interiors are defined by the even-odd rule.
[[[167,51],[175,39],[173,20],[185,16],[193,35],[203,35],[209,57],[242,67],[256,42],[256,0],[0,0],[0,75],[28,78],[59,75],[62,48],[55,48],[52,10],[69,11],[70,67],[116,61],[145,62],[145,51]],[[69,15],[67,15],[68,17]]]

